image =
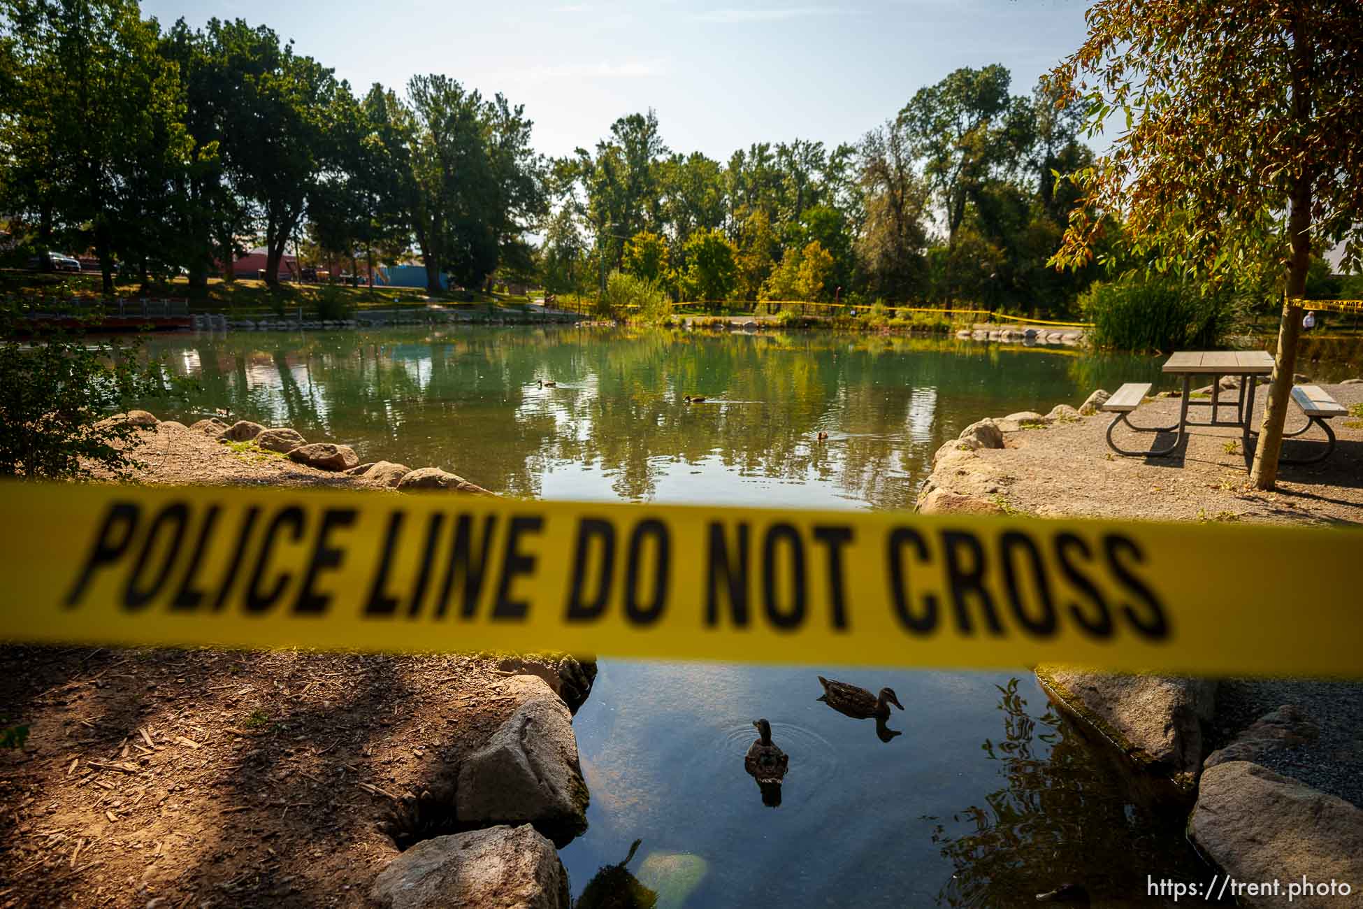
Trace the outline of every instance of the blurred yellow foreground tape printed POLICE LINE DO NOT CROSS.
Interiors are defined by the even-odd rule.
[[[0,638],[1363,675],[1351,530],[0,487]]]

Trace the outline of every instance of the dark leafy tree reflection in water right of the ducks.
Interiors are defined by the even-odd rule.
[[[1084,887],[1094,905],[1163,905],[1146,898],[1146,875],[1204,879],[1183,838],[1186,805],[1142,795],[1138,780],[1050,703],[1033,717],[1018,684],[996,685],[1003,739],[981,745],[999,762],[1005,785],[950,823],[927,818],[936,822],[932,842],[954,868],[938,905],[1036,906],[1037,894],[1062,884]]]

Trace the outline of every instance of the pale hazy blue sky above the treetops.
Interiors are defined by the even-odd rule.
[[[855,142],[957,67],[1002,63],[1014,93],[1084,40],[1081,0],[144,0],[143,15],[241,18],[357,90],[443,72],[502,91],[547,154],[654,108],[668,146],[726,159],[752,142]]]

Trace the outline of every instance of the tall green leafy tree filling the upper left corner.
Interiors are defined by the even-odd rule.
[[[112,293],[116,253],[144,255],[165,236],[188,159],[176,68],[132,0],[3,0],[0,19],[8,207],[37,217],[44,244],[93,245]]]

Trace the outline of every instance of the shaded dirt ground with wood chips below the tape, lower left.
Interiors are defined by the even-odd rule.
[[[472,657],[0,649],[0,906],[363,906],[511,715]],[[510,690],[510,688],[508,688]],[[448,784],[444,781],[450,780]],[[448,831],[448,830],[444,830]]]

